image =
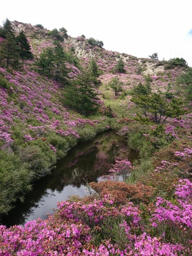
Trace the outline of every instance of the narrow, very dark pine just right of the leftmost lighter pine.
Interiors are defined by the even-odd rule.
[[[17,35],[17,43],[21,47],[20,57],[24,60],[29,60],[32,58],[31,47],[27,41],[26,35],[24,34],[23,30],[20,31],[19,35]]]

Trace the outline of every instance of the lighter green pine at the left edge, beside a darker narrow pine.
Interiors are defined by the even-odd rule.
[[[0,47],[0,63],[3,65],[3,62],[6,63],[6,67],[10,65],[12,67],[19,66],[20,58],[20,47],[17,45],[15,37],[12,33],[6,33],[6,39],[1,43]]]

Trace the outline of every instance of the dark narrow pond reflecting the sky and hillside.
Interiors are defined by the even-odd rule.
[[[132,162],[137,154],[127,148],[125,138],[113,131],[77,145],[57,163],[51,175],[35,182],[23,203],[18,202],[9,215],[2,216],[2,224],[9,227],[47,218],[46,213],[52,213],[58,201],[70,195],[82,197],[87,194],[84,179],[88,182],[101,179],[102,175],[108,175],[115,159],[125,158]]]

